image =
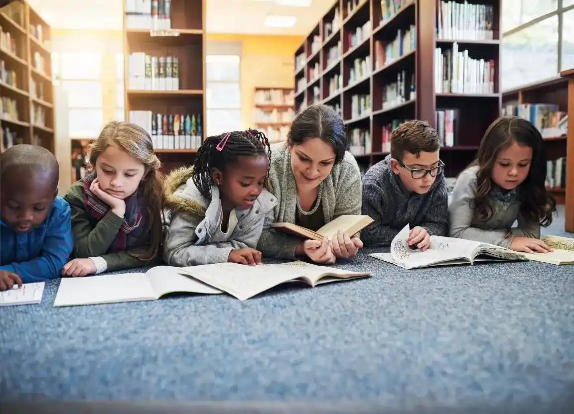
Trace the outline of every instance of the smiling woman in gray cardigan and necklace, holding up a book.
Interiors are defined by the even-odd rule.
[[[269,228],[290,222],[313,231],[343,214],[361,213],[359,167],[350,153],[340,115],[326,105],[312,105],[293,120],[287,144],[273,151],[267,188],[278,204],[267,214],[258,249],[263,256],[335,263],[356,255],[363,243],[339,233],[332,240],[301,240]]]

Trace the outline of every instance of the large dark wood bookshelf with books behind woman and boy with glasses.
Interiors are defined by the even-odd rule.
[[[336,1],[295,53],[295,110],[335,107],[363,170],[398,124],[426,120],[455,177],[501,108],[501,0],[472,3]]]

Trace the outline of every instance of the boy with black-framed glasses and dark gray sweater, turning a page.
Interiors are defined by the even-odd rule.
[[[389,246],[406,224],[413,249],[428,249],[431,235],[448,235],[440,146],[439,135],[424,121],[408,121],[393,131],[391,153],[363,178],[362,213],[374,219],[361,232],[365,247]]]

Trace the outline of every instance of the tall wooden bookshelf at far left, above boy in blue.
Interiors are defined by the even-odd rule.
[[[55,151],[50,26],[26,2],[0,8],[0,152]]]

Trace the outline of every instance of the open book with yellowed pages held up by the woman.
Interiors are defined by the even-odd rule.
[[[305,239],[321,241],[324,237],[333,237],[339,230],[342,230],[349,236],[354,236],[372,222],[373,219],[371,217],[363,216],[362,214],[343,214],[343,216],[339,216],[335,218],[335,220],[328,222],[316,232],[296,224],[284,222],[273,223],[271,228],[284,233],[304,237]]]

